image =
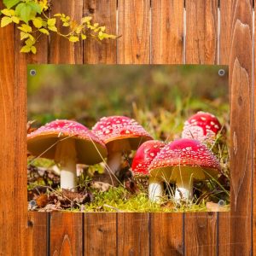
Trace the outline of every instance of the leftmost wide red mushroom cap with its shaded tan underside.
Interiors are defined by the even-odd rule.
[[[58,141],[67,138],[75,140],[77,161],[93,165],[107,156],[107,148],[87,127],[78,122],[56,119],[27,135],[27,149],[33,155],[55,159]]]

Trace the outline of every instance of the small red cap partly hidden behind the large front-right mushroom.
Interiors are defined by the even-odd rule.
[[[148,141],[143,143],[133,158],[131,169],[135,175],[148,175],[148,166],[154,160],[165,143],[160,141]]]

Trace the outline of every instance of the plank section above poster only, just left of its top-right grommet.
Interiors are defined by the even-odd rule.
[[[218,0],[186,1],[186,64],[216,64]]]

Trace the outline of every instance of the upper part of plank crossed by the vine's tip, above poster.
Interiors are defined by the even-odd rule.
[[[116,0],[86,0],[84,1],[84,16],[92,16],[100,25],[107,28],[111,34],[117,33]],[[88,38],[84,41],[84,63],[115,63],[116,40],[96,41]]]

